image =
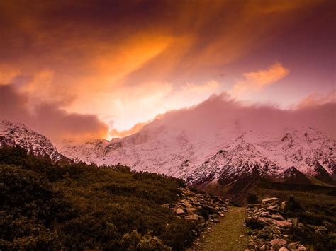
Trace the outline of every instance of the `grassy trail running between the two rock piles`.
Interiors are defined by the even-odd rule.
[[[230,207],[225,216],[220,219],[210,232],[206,233],[201,245],[189,251],[206,250],[244,250],[247,247],[247,227],[243,226],[247,211],[245,207]]]

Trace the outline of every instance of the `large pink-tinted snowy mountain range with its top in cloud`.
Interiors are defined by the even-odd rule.
[[[61,152],[87,163],[121,163],[133,170],[180,177],[190,184],[225,185],[251,174],[283,178],[291,167],[314,176],[317,165],[328,176],[335,175],[336,141],[313,127],[264,132],[226,124],[208,134],[195,132],[156,120],[123,139],[65,146]]]

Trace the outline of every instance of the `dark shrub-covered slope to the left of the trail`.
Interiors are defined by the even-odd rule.
[[[162,204],[184,182],[121,165],[52,165],[0,149],[0,250],[183,250],[193,223]]]

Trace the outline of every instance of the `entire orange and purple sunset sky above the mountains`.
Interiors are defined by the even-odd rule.
[[[213,94],[245,107],[326,107],[335,103],[335,7],[0,1],[0,118],[60,143],[127,136]]]

